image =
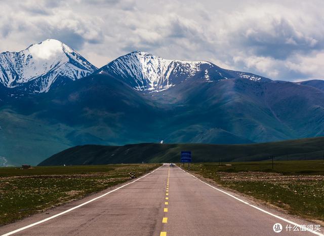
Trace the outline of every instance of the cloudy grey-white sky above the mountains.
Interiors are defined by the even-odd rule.
[[[275,80],[323,78],[324,1],[0,0],[0,51],[55,38],[100,67],[135,50]]]

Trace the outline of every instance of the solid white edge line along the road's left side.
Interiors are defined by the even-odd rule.
[[[144,175],[144,176],[142,176],[142,177],[140,177],[140,178],[138,178],[138,179],[136,179],[136,180],[134,180],[134,181],[132,181],[132,182],[130,182],[130,183],[124,184],[124,185],[122,185],[122,186],[120,186],[120,187],[117,187],[117,188],[115,188],[115,189],[113,189],[113,190],[111,190],[111,191],[109,191],[109,192],[106,192],[106,193],[104,193],[104,194],[102,194],[102,195],[100,195],[100,196],[97,196],[97,198],[94,198],[94,199],[92,199],[92,200],[89,200],[88,202],[85,202],[85,203],[83,203],[83,204],[80,204],[80,205],[77,205],[77,206],[75,206],[75,207],[72,207],[72,208],[70,208],[70,209],[68,209],[68,210],[66,210],[66,211],[63,211],[63,212],[58,213],[58,214],[56,214],[56,215],[54,215],[54,216],[48,217],[48,218],[46,218],[46,219],[44,219],[44,220],[37,221],[37,222],[35,222],[35,223],[29,224],[29,225],[27,225],[27,226],[24,226],[24,227],[22,227],[22,228],[18,228],[18,229],[14,230],[14,231],[11,231],[11,232],[8,232],[8,233],[5,233],[5,234],[3,234],[3,235],[1,235],[1,236],[7,236],[7,235],[14,234],[14,233],[16,233],[16,232],[19,232],[19,231],[22,231],[22,230],[24,230],[24,229],[30,228],[30,227],[35,226],[35,225],[37,225],[37,224],[44,223],[44,222],[46,222],[46,221],[48,221],[48,220],[51,220],[51,219],[53,219],[53,218],[55,218],[55,217],[58,217],[58,216],[60,216],[60,215],[63,215],[63,214],[68,213],[68,212],[70,212],[70,211],[73,211],[73,210],[75,210],[75,209],[77,209],[77,208],[79,208],[79,207],[82,207],[82,206],[84,206],[84,205],[86,205],[86,204],[88,204],[88,203],[91,203],[91,202],[93,202],[93,201],[95,201],[95,200],[97,200],[97,199],[100,199],[100,198],[102,198],[103,196],[105,196],[105,195],[107,195],[107,194],[109,194],[109,193],[111,193],[111,192],[117,191],[117,190],[120,189],[120,188],[123,188],[123,187],[125,187],[125,186],[127,186],[127,185],[129,185],[129,184],[131,184],[131,183],[134,183],[134,182],[140,180],[141,178],[144,178],[145,176],[148,176],[149,174],[152,174],[154,171],[156,171],[156,170],[158,170],[158,169],[160,169],[160,168],[161,168],[161,167],[159,167],[159,168],[153,170],[152,172],[150,172],[150,173],[148,173],[148,174],[146,174],[146,175]]]

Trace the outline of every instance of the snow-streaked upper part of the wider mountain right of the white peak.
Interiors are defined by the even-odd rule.
[[[259,75],[222,69],[208,61],[168,60],[141,51],[113,60],[100,68],[98,73],[103,71],[120,78],[138,91],[162,91],[189,79],[206,82],[228,78],[270,81]]]

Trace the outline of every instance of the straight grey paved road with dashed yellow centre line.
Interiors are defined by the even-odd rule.
[[[101,195],[105,192],[100,192],[0,227],[0,234],[54,217],[14,235],[315,235],[293,231],[293,223],[309,222],[265,207],[257,209],[251,200],[225,192],[232,196],[178,167],[163,166],[104,196]],[[98,196],[101,197],[78,207]],[[73,207],[76,208],[55,217]],[[273,231],[275,223],[284,226],[280,233]],[[285,228],[289,224],[291,232]]]

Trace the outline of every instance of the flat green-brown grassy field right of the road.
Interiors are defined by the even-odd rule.
[[[324,161],[275,161],[273,169],[272,162],[197,163],[191,164],[190,169],[323,225]]]

